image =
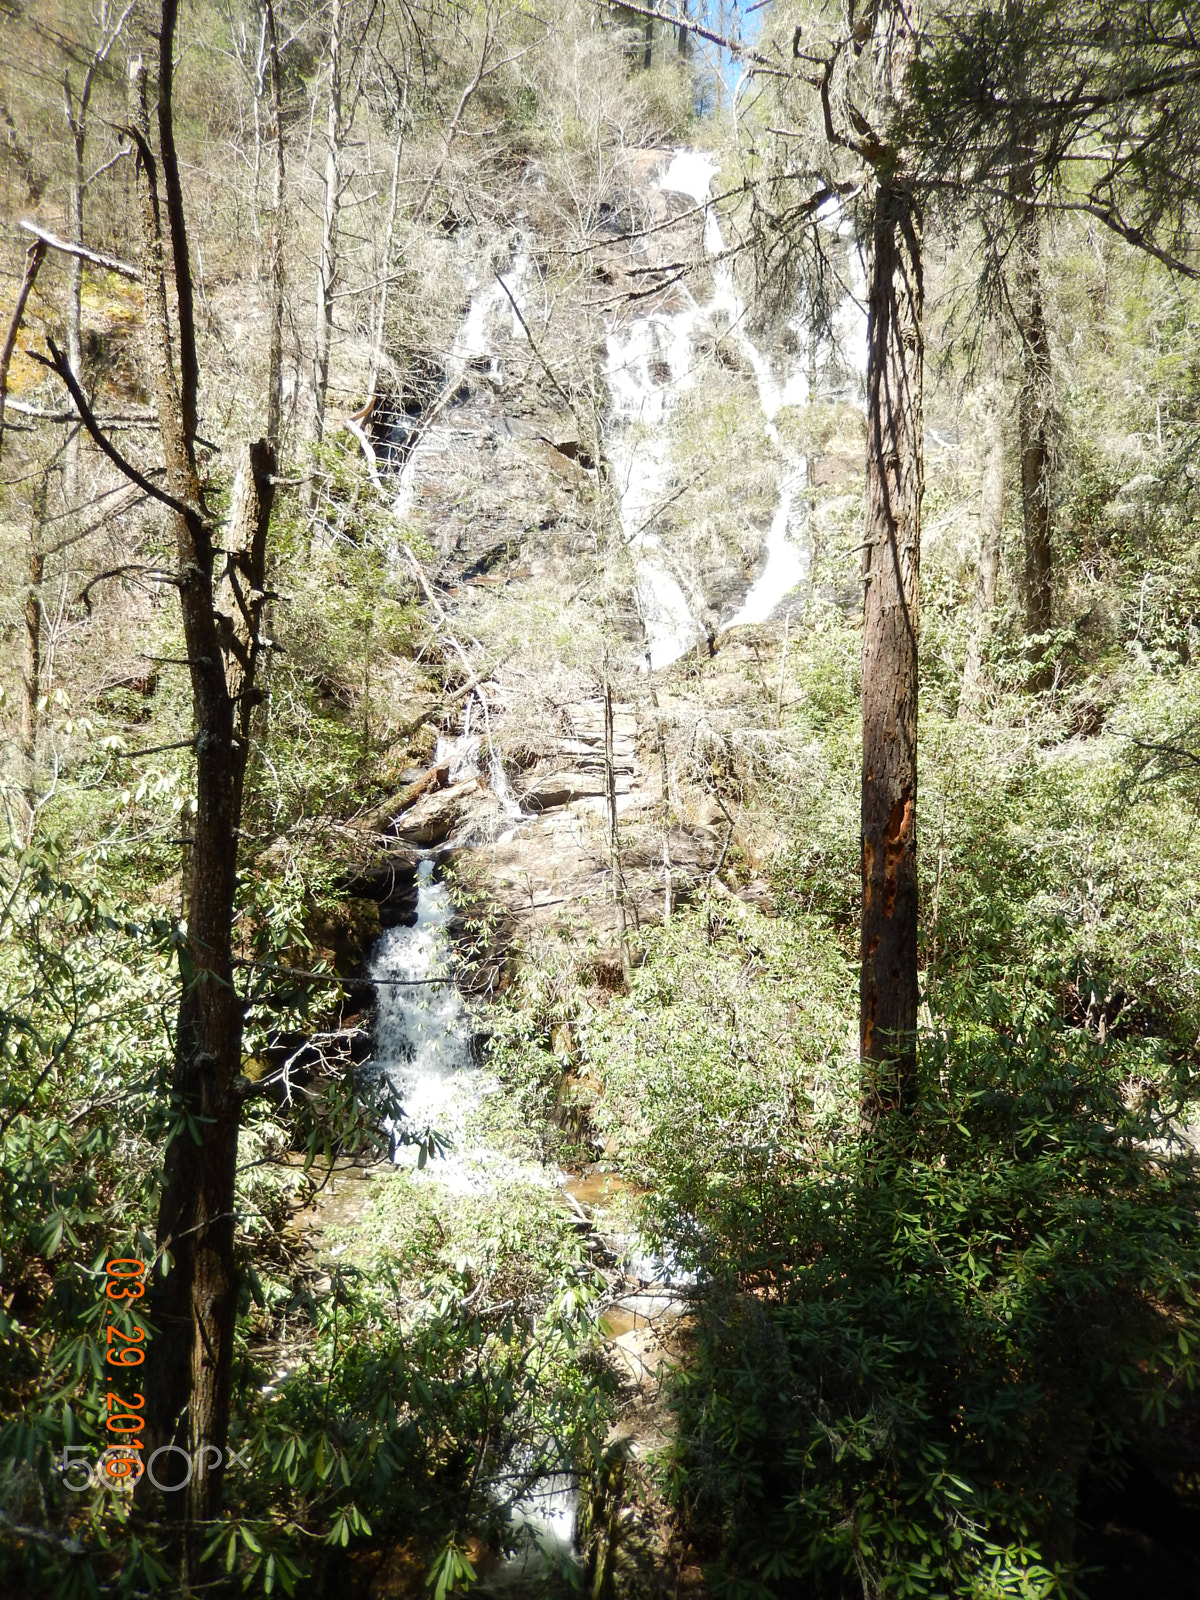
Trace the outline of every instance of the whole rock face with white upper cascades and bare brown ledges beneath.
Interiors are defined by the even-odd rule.
[[[478,850],[517,938],[587,922],[603,963],[618,896],[635,938],[725,861],[733,824],[707,790],[730,768],[691,712],[667,736],[654,685],[666,667],[686,680],[718,640],[736,653],[736,630],[781,602],[803,606],[816,432],[798,418],[810,395],[853,403],[862,326],[851,306],[840,339],[750,331],[707,154],[627,152],[589,270],[554,288],[546,262],[566,240],[547,237],[536,189],[530,173],[507,237],[464,230],[458,333],[410,362],[373,421],[395,523],[424,539],[446,693],[434,765],[373,830]],[[853,242],[829,226],[854,285]],[[621,691],[616,867],[605,658]]]

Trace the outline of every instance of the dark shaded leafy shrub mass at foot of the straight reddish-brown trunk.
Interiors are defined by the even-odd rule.
[[[1195,1162],[1061,1026],[936,1038],[915,1123],[778,1170],[678,1378],[722,1597],[1074,1592],[1085,1470],[1197,1376]],[[1176,1110],[1178,1107],[1170,1107]]]

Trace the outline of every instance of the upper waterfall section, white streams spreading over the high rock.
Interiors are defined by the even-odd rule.
[[[549,248],[533,203],[502,242],[464,238],[443,384],[394,478],[397,517],[426,518],[451,562],[485,536],[512,549],[531,515],[566,549],[616,523],[630,646],[651,669],[803,602],[803,411],[834,371],[838,398],[861,389],[853,294],[840,352],[798,317],[755,318],[734,203],[707,150],[627,150],[587,256]],[[854,242],[838,218],[829,232],[854,286]]]

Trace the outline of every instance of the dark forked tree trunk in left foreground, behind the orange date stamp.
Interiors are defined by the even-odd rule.
[[[242,784],[253,677],[259,654],[266,530],[274,451],[248,450],[226,530],[214,595],[213,525],[203,506],[194,437],[198,366],[179,166],[171,130],[178,0],[163,0],[158,59],[158,142],[179,306],[179,381],[171,355],[158,170],[146,114],[146,67],[131,64],[133,128],[146,173],[142,254],[146,328],[158,432],[171,494],[179,602],[192,678],[197,816],[187,938],[179,949],[182,995],[173,1096],[179,1122],[163,1163],[158,1261],[150,1315],[160,1330],[146,1378],[150,1445],[174,1443],[195,1464],[168,1510],[186,1522],[186,1578],[200,1565],[203,1525],[221,1502],[221,1451],[229,1427],[237,1275],[234,1179],[242,1115],[242,1003],[234,987],[232,923]],[[171,1269],[162,1270],[170,1253]]]

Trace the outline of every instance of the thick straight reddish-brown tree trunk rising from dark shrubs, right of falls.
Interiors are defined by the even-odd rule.
[[[918,21],[883,6],[875,99],[896,101]],[[920,213],[877,170],[867,306],[859,1051],[870,1128],[912,1104],[917,1072],[917,632],[923,280]]]

